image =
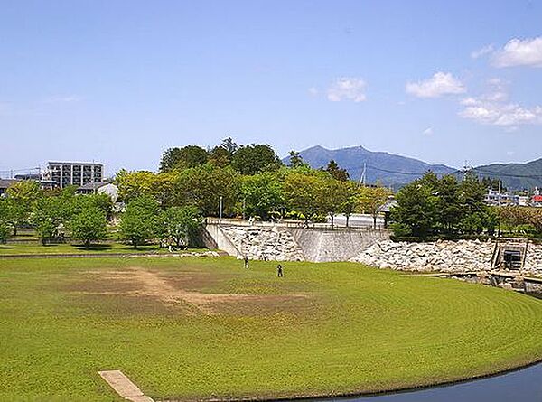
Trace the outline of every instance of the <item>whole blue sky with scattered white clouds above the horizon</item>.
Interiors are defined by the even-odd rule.
[[[0,1],[0,171],[164,149],[542,157],[542,2]]]

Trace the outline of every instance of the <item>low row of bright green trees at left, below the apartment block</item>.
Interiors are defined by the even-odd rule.
[[[70,186],[44,192],[37,182],[15,182],[6,196],[0,197],[0,240],[16,236],[17,229],[31,227],[43,245],[69,237],[86,248],[107,238],[126,241],[135,248],[154,239],[180,248],[190,245],[201,225],[197,208],[161,210],[147,195],[130,202],[120,223],[112,225],[113,202],[107,194],[77,195],[75,190]]]

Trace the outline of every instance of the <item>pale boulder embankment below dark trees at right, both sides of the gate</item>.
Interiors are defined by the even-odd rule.
[[[379,241],[350,261],[400,271],[444,273],[491,270],[491,240],[435,241],[428,243]],[[542,276],[542,246],[529,244],[524,271]]]

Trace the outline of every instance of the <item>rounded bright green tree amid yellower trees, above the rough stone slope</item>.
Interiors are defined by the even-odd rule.
[[[241,197],[248,216],[267,220],[271,212],[283,206],[282,190],[282,183],[275,173],[264,172],[243,177]]]

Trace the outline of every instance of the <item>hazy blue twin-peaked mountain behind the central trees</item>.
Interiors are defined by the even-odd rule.
[[[426,164],[423,161],[387,152],[372,152],[363,146],[342,149],[326,149],[320,145],[300,152],[304,162],[313,168],[325,167],[334,160],[350,174],[352,180],[360,180],[363,164],[366,164],[366,182],[381,182],[394,188],[402,187],[408,182],[421,177],[431,170],[435,173],[454,173],[456,169],[444,164]],[[284,159],[285,164],[288,158]]]

